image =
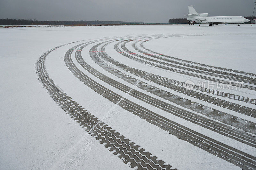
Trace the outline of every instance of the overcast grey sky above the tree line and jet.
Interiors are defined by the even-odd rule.
[[[167,23],[188,5],[209,16],[251,16],[256,0],[0,0],[0,18]]]

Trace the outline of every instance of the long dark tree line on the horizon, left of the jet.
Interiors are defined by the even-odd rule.
[[[0,19],[0,25],[97,25],[97,24],[142,24],[125,21],[37,21],[36,19]]]

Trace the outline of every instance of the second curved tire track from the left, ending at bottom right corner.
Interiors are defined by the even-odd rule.
[[[97,46],[97,45],[96,45]],[[82,48],[82,47],[81,47]],[[76,51],[76,58],[78,53],[80,53],[81,48]],[[90,55],[95,55],[95,46],[91,48]],[[70,71],[84,84],[89,86],[91,89],[96,91],[97,93],[101,94],[102,96],[108,98],[108,100],[118,103],[119,106],[124,108],[125,110],[130,111],[131,113],[143,118],[144,120],[148,121],[151,124],[155,124],[158,127],[162,128],[165,131],[168,131],[172,135],[185,140],[201,149],[204,149],[207,152],[210,152],[222,159],[227,160],[237,166],[240,166],[244,169],[256,168],[256,158],[252,155],[247,153],[241,152],[235,148],[232,148],[228,145],[220,143],[212,138],[206,137],[196,131],[193,131],[185,126],[177,124],[165,117],[162,117],[146,108],[141,107],[140,105],[133,103],[132,101],[114,93],[113,91],[105,88],[104,86],[100,85],[99,83],[90,79],[87,75],[85,75],[81,70],[79,70],[75,64],[72,62],[71,53],[72,50],[68,51],[69,55],[65,55],[65,62],[70,69]],[[105,80],[106,82],[112,81],[110,78],[106,77],[105,75],[101,74],[97,70],[93,69],[90,65],[86,62],[79,62],[78,63],[84,67],[92,75],[96,76],[97,78],[101,78],[101,80]]]

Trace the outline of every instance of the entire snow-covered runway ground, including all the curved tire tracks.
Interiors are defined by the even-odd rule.
[[[1,42],[4,118],[0,164],[5,168],[39,169],[255,169],[256,72],[252,68],[252,44],[256,34],[249,26],[0,30],[5,36]],[[31,40],[40,39],[32,43],[24,40],[26,34]],[[218,37],[220,44],[227,46],[234,37],[238,41],[232,48],[225,48],[215,44]],[[29,46],[34,49],[25,50]],[[193,52],[196,48],[198,57]],[[214,60],[214,51],[225,55],[221,53]],[[239,56],[243,56],[243,62]],[[227,58],[229,62],[223,65]],[[20,83],[13,83],[14,79]],[[45,95],[36,79],[59,106]],[[193,85],[186,84],[188,81]],[[17,93],[20,96],[15,96]],[[14,104],[15,98],[20,100]],[[36,121],[29,121],[31,117]],[[12,125],[17,123],[21,126]],[[73,138],[60,135],[64,127],[73,131]],[[61,142],[54,142],[59,139]],[[37,159],[31,157],[32,152]],[[12,162],[14,159],[17,161]]]

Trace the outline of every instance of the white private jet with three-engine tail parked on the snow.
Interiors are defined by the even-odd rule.
[[[212,25],[218,25],[218,24],[238,24],[237,26],[240,26],[239,23],[245,23],[250,21],[249,19],[246,19],[241,16],[219,16],[219,17],[208,17],[208,13],[202,13],[199,14],[196,12],[196,10],[193,8],[193,6],[188,6],[189,14],[185,15],[187,16],[187,20],[190,24],[193,24],[194,22],[200,23],[200,24],[209,24],[209,26]]]

